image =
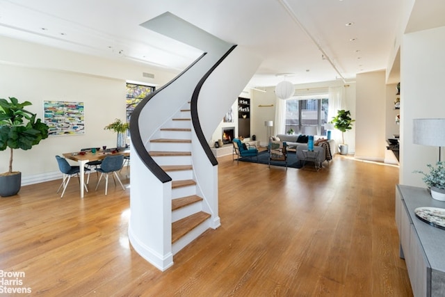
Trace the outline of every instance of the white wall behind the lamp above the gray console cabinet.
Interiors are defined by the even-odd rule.
[[[414,118],[445,118],[445,26],[405,34],[401,47],[401,170],[400,183],[422,186],[426,164],[439,159],[437,147],[412,143]],[[441,127],[438,129],[445,129]]]

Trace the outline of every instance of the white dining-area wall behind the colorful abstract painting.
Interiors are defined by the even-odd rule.
[[[162,86],[175,74],[144,65],[74,54],[27,42],[0,38],[0,97],[33,103],[30,110],[43,116],[44,100],[85,104],[86,133],[51,136],[29,151],[15,150],[13,170],[22,171],[22,184],[58,173],[54,156],[82,147],[115,146],[116,135],[104,127],[125,118],[125,80]],[[147,81],[142,72],[155,74]],[[0,172],[8,170],[9,150],[0,152]],[[40,180],[41,181],[41,180]],[[39,182],[39,180],[35,181]]]

